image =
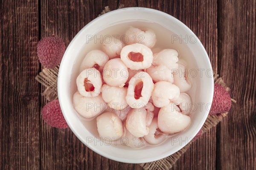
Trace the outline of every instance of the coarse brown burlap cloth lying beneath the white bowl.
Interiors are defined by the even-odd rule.
[[[119,8],[123,8],[124,5],[120,5]],[[111,11],[108,6],[105,7],[105,9],[102,11],[101,14],[105,14],[107,12]],[[57,80],[58,80],[58,69],[59,66],[53,68],[53,69],[48,69],[44,68],[39,75],[35,77],[35,79],[41,83],[41,85],[44,85],[46,87],[45,91],[42,93],[42,96],[45,96],[45,98],[48,101],[52,101],[55,99],[58,99],[58,94],[57,94]],[[215,74],[214,76],[214,82],[222,85],[223,87],[226,88],[227,91],[230,89],[225,86],[223,80],[218,77],[218,74]],[[231,99],[233,102],[236,102],[235,100]],[[206,122],[204,123],[202,127],[202,134],[207,132],[209,129],[212,127],[215,127],[225,116],[227,116],[227,113],[219,114],[219,115],[213,115],[213,116],[208,116]],[[145,170],[167,170],[170,169],[175,162],[180,158],[180,156],[186,152],[186,150],[190,147],[190,145],[195,142],[195,140],[192,140],[189,142],[185,147],[183,147],[181,150],[178,152],[172,154],[171,156],[168,156],[164,159],[158,160],[158,161],[153,161],[153,162],[148,162],[145,164],[140,164],[141,167]]]

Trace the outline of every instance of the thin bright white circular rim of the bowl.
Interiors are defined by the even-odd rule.
[[[128,9],[128,10],[131,10],[131,9],[134,9],[134,8],[139,8],[139,7],[128,7],[128,8],[125,8],[125,9]],[[142,8],[142,7],[141,7]],[[186,29],[187,33],[188,34],[192,34],[192,35],[195,35],[195,33],[188,27],[186,26],[184,23],[182,23],[180,20],[178,20],[177,18],[173,17],[172,15],[170,14],[167,14],[163,11],[159,11],[159,10],[156,10],[156,9],[151,9],[151,8],[144,8],[144,10],[146,11],[149,11],[151,13],[157,13],[157,14],[160,14],[160,15],[163,15],[165,17],[169,17],[170,19],[172,19],[175,23],[179,24],[181,27],[183,27],[184,29]],[[64,56],[61,60],[61,64],[60,64],[60,67],[59,67],[59,72],[58,72],[58,81],[63,81],[63,77],[64,76],[61,76],[61,73],[62,73],[62,70],[64,70],[64,66],[63,66],[63,63],[66,62],[67,58],[69,57],[67,55],[67,51],[70,51],[70,46],[71,44],[73,44],[73,42],[76,41],[76,39],[80,36],[80,34],[82,34],[82,32],[89,26],[93,25],[94,23],[98,22],[98,20],[102,20],[104,18],[107,18],[109,14],[115,14],[115,13],[119,13],[120,11],[124,11],[123,8],[120,8],[120,9],[116,9],[116,10],[113,10],[113,11],[110,11],[106,14],[103,14],[99,17],[96,17],[94,20],[90,21],[89,23],[87,23],[87,25],[85,25],[83,28],[81,28],[81,30],[76,34],[76,36],[73,38],[73,40],[70,42],[70,44],[68,45],[65,53],[64,53]],[[196,35],[195,35],[196,36]],[[197,37],[197,36],[196,36]],[[198,38],[198,37],[197,37]],[[204,57],[206,58],[207,60],[207,64],[209,65],[209,67],[212,69],[212,65],[211,65],[211,62],[209,60],[209,56],[207,54],[207,51],[205,50],[204,46],[202,45],[202,43],[200,42],[200,40],[198,39],[198,42],[199,42],[199,45],[200,45],[200,48],[202,50],[202,52],[204,53]],[[213,77],[210,79],[210,81],[212,82],[212,88],[210,89],[211,91],[209,91],[209,99],[211,99],[211,102],[212,103],[212,99],[213,99],[213,92],[214,92],[214,79]],[[180,149],[182,149],[186,144],[188,144],[192,139],[189,139],[188,142],[186,142],[186,144],[184,145],[180,145],[180,147],[177,147],[175,149],[174,152],[168,152],[166,154],[162,154],[161,156],[157,156],[157,157],[153,157],[152,159],[147,159],[147,160],[136,160],[136,161],[128,161],[127,159],[122,159],[120,157],[114,157],[114,156],[110,156],[108,154],[105,154],[105,153],[102,153],[101,150],[97,149],[97,147],[93,147],[94,145],[90,145],[88,144],[80,135],[79,133],[76,132],[76,129],[73,127],[72,123],[70,122],[69,118],[68,118],[68,114],[67,112],[65,112],[65,102],[61,99],[63,99],[63,94],[61,93],[62,90],[62,86],[60,85],[60,83],[58,83],[58,99],[59,99],[59,103],[60,103],[60,106],[61,106],[61,111],[64,115],[64,118],[68,124],[68,126],[70,127],[70,129],[72,130],[72,132],[76,135],[76,137],[84,144],[86,145],[87,147],[89,147],[91,150],[93,150],[94,152],[98,153],[99,155],[101,156],[104,156],[108,159],[112,159],[114,161],[120,161],[120,162],[124,162],[124,163],[147,163],[147,162],[151,162],[151,161],[157,161],[157,160],[160,160],[160,159],[163,159],[163,158],[166,158],[167,156],[170,156],[174,153],[176,153],[177,151],[179,151]],[[210,110],[210,108],[209,108]],[[207,119],[207,116],[208,116],[208,113],[209,111],[207,111],[207,114],[204,115],[204,119],[202,119],[201,121],[201,124],[198,125],[198,128],[195,130],[197,133],[199,132],[199,130],[201,129],[201,127],[204,125],[204,122],[206,121]]]

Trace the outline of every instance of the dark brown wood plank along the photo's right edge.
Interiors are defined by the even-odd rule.
[[[237,100],[218,126],[218,169],[256,167],[256,1],[218,3],[218,71]]]

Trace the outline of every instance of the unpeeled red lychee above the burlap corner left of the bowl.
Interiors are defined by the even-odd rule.
[[[44,67],[55,68],[61,63],[65,48],[64,41],[57,36],[42,38],[37,47],[38,59]]]

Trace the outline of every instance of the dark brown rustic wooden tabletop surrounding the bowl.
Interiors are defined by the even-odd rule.
[[[0,0],[0,169],[141,169],[106,159],[67,128],[41,119],[44,88],[36,46],[56,34],[68,45],[105,6],[164,11],[185,23],[237,100],[172,169],[256,168],[256,0]]]

